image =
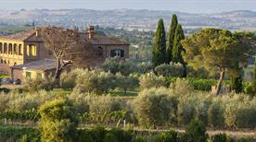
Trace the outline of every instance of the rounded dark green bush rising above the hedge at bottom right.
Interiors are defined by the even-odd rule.
[[[186,133],[193,142],[206,142],[208,139],[205,125],[197,119],[186,125]]]

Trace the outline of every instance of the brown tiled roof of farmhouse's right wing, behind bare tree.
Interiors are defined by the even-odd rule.
[[[93,39],[89,39],[89,33],[81,33],[81,37],[93,45],[129,45],[126,41],[96,33],[94,34]]]

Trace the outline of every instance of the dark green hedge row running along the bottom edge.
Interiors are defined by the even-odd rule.
[[[196,124],[196,125],[195,125]],[[200,123],[199,123],[200,124]],[[255,139],[229,137],[225,134],[208,136],[205,128],[198,122],[186,126],[186,133],[169,132],[148,132],[121,130],[118,128],[106,129],[95,127],[90,129],[77,130],[77,142],[250,142]],[[196,127],[196,128],[194,128]],[[9,127],[0,126],[0,141],[41,141],[40,133],[36,128],[31,127]]]

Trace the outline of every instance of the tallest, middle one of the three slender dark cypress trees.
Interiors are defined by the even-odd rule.
[[[175,37],[175,31],[178,26],[178,19],[176,15],[173,15],[172,22],[169,29],[169,36],[168,36],[168,46],[166,49],[166,57],[167,57],[167,64],[172,62],[172,56],[173,56],[173,42]]]

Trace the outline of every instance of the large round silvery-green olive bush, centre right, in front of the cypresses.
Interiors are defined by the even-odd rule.
[[[144,89],[134,99],[134,111],[139,124],[157,127],[173,120],[177,103],[176,98],[169,95],[168,89]]]

